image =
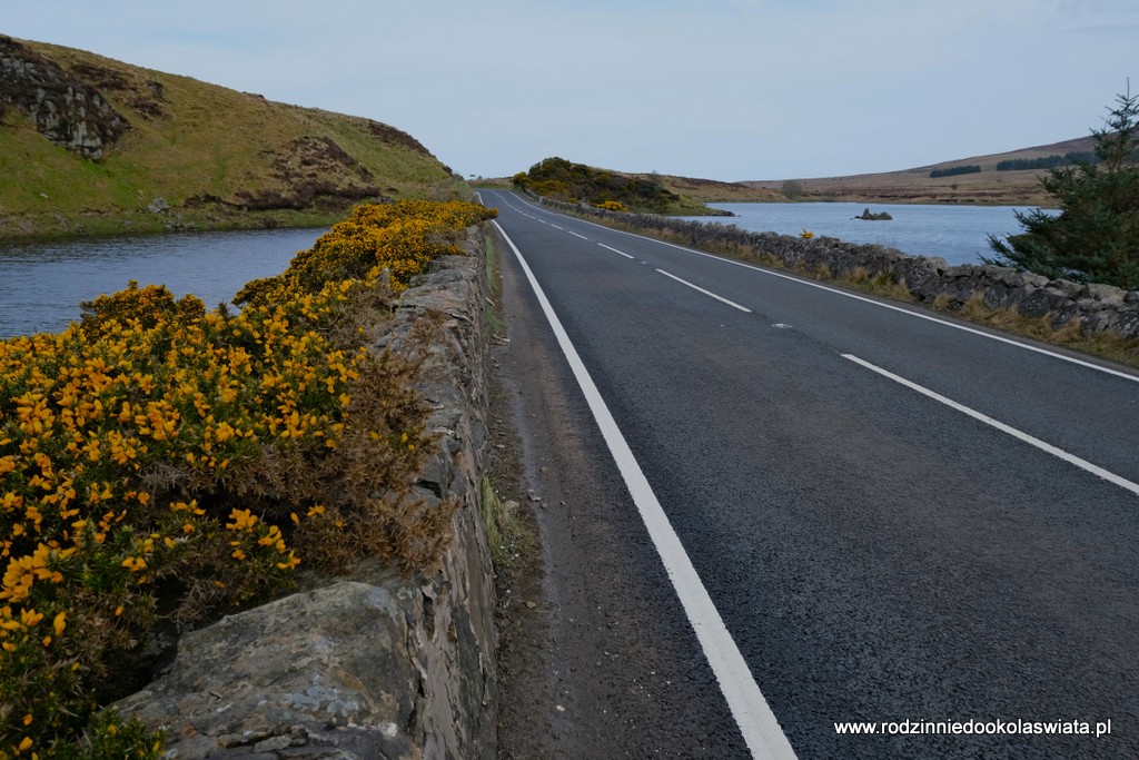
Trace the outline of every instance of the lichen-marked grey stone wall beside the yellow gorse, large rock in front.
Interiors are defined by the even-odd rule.
[[[117,709],[166,732],[179,760],[493,758],[498,690],[494,589],[480,506],[487,449],[481,263],[434,262],[400,299],[399,346],[427,320],[439,330],[419,389],[440,447],[425,499],[458,498],[454,539],[433,573],[377,562],[350,578],[186,635],[174,661]]]

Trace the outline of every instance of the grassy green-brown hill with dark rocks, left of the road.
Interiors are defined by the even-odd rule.
[[[0,74],[0,237],[322,224],[457,187],[369,119],[3,35]]]

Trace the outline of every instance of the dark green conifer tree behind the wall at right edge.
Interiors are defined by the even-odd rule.
[[[1116,96],[1103,130],[1092,130],[1096,162],[1049,170],[1041,180],[1059,215],[1017,212],[1024,232],[989,236],[999,255],[986,263],[1046,277],[1139,289],[1139,96]]]

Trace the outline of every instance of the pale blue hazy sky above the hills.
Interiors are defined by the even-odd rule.
[[[1139,91],[1139,0],[0,0],[0,33],[367,116],[464,177],[726,181],[1047,145]]]

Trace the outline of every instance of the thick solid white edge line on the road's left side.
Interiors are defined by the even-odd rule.
[[[514,251],[518,264],[526,273],[526,279],[530,280],[530,286],[554,329],[558,345],[562,348],[566,361],[570,362],[577,385],[585,395],[593,419],[597,420],[601,435],[609,447],[609,453],[613,455],[613,459],[621,471],[621,476],[625,481],[625,487],[629,489],[629,493],[640,512],[641,520],[645,521],[649,537],[661,555],[669,579],[672,581],[680,604],[688,615],[688,622],[696,631],[696,638],[704,648],[712,672],[715,673],[716,680],[720,683],[720,689],[728,701],[728,706],[731,709],[731,714],[739,726],[752,757],[763,760],[794,760],[795,751],[792,749],[790,742],[787,741],[779,727],[779,721],[776,720],[775,713],[768,705],[767,698],[760,692],[747,662],[744,661],[731,634],[723,624],[719,610],[712,603],[707,589],[704,588],[691,559],[685,553],[685,547],[681,546],[680,539],[669,523],[669,517],[664,514],[661,502],[653,492],[653,487],[645,477],[645,473],[617,427],[616,420],[609,414],[609,408],[597,390],[597,385],[593,384],[581,357],[577,356],[577,350],[571,343],[570,336],[566,335],[562,321],[542,291],[542,286],[539,285],[538,278],[534,277],[534,272],[531,271],[530,264],[526,263],[526,259],[518,251],[514,240],[498,222],[491,223]]]

